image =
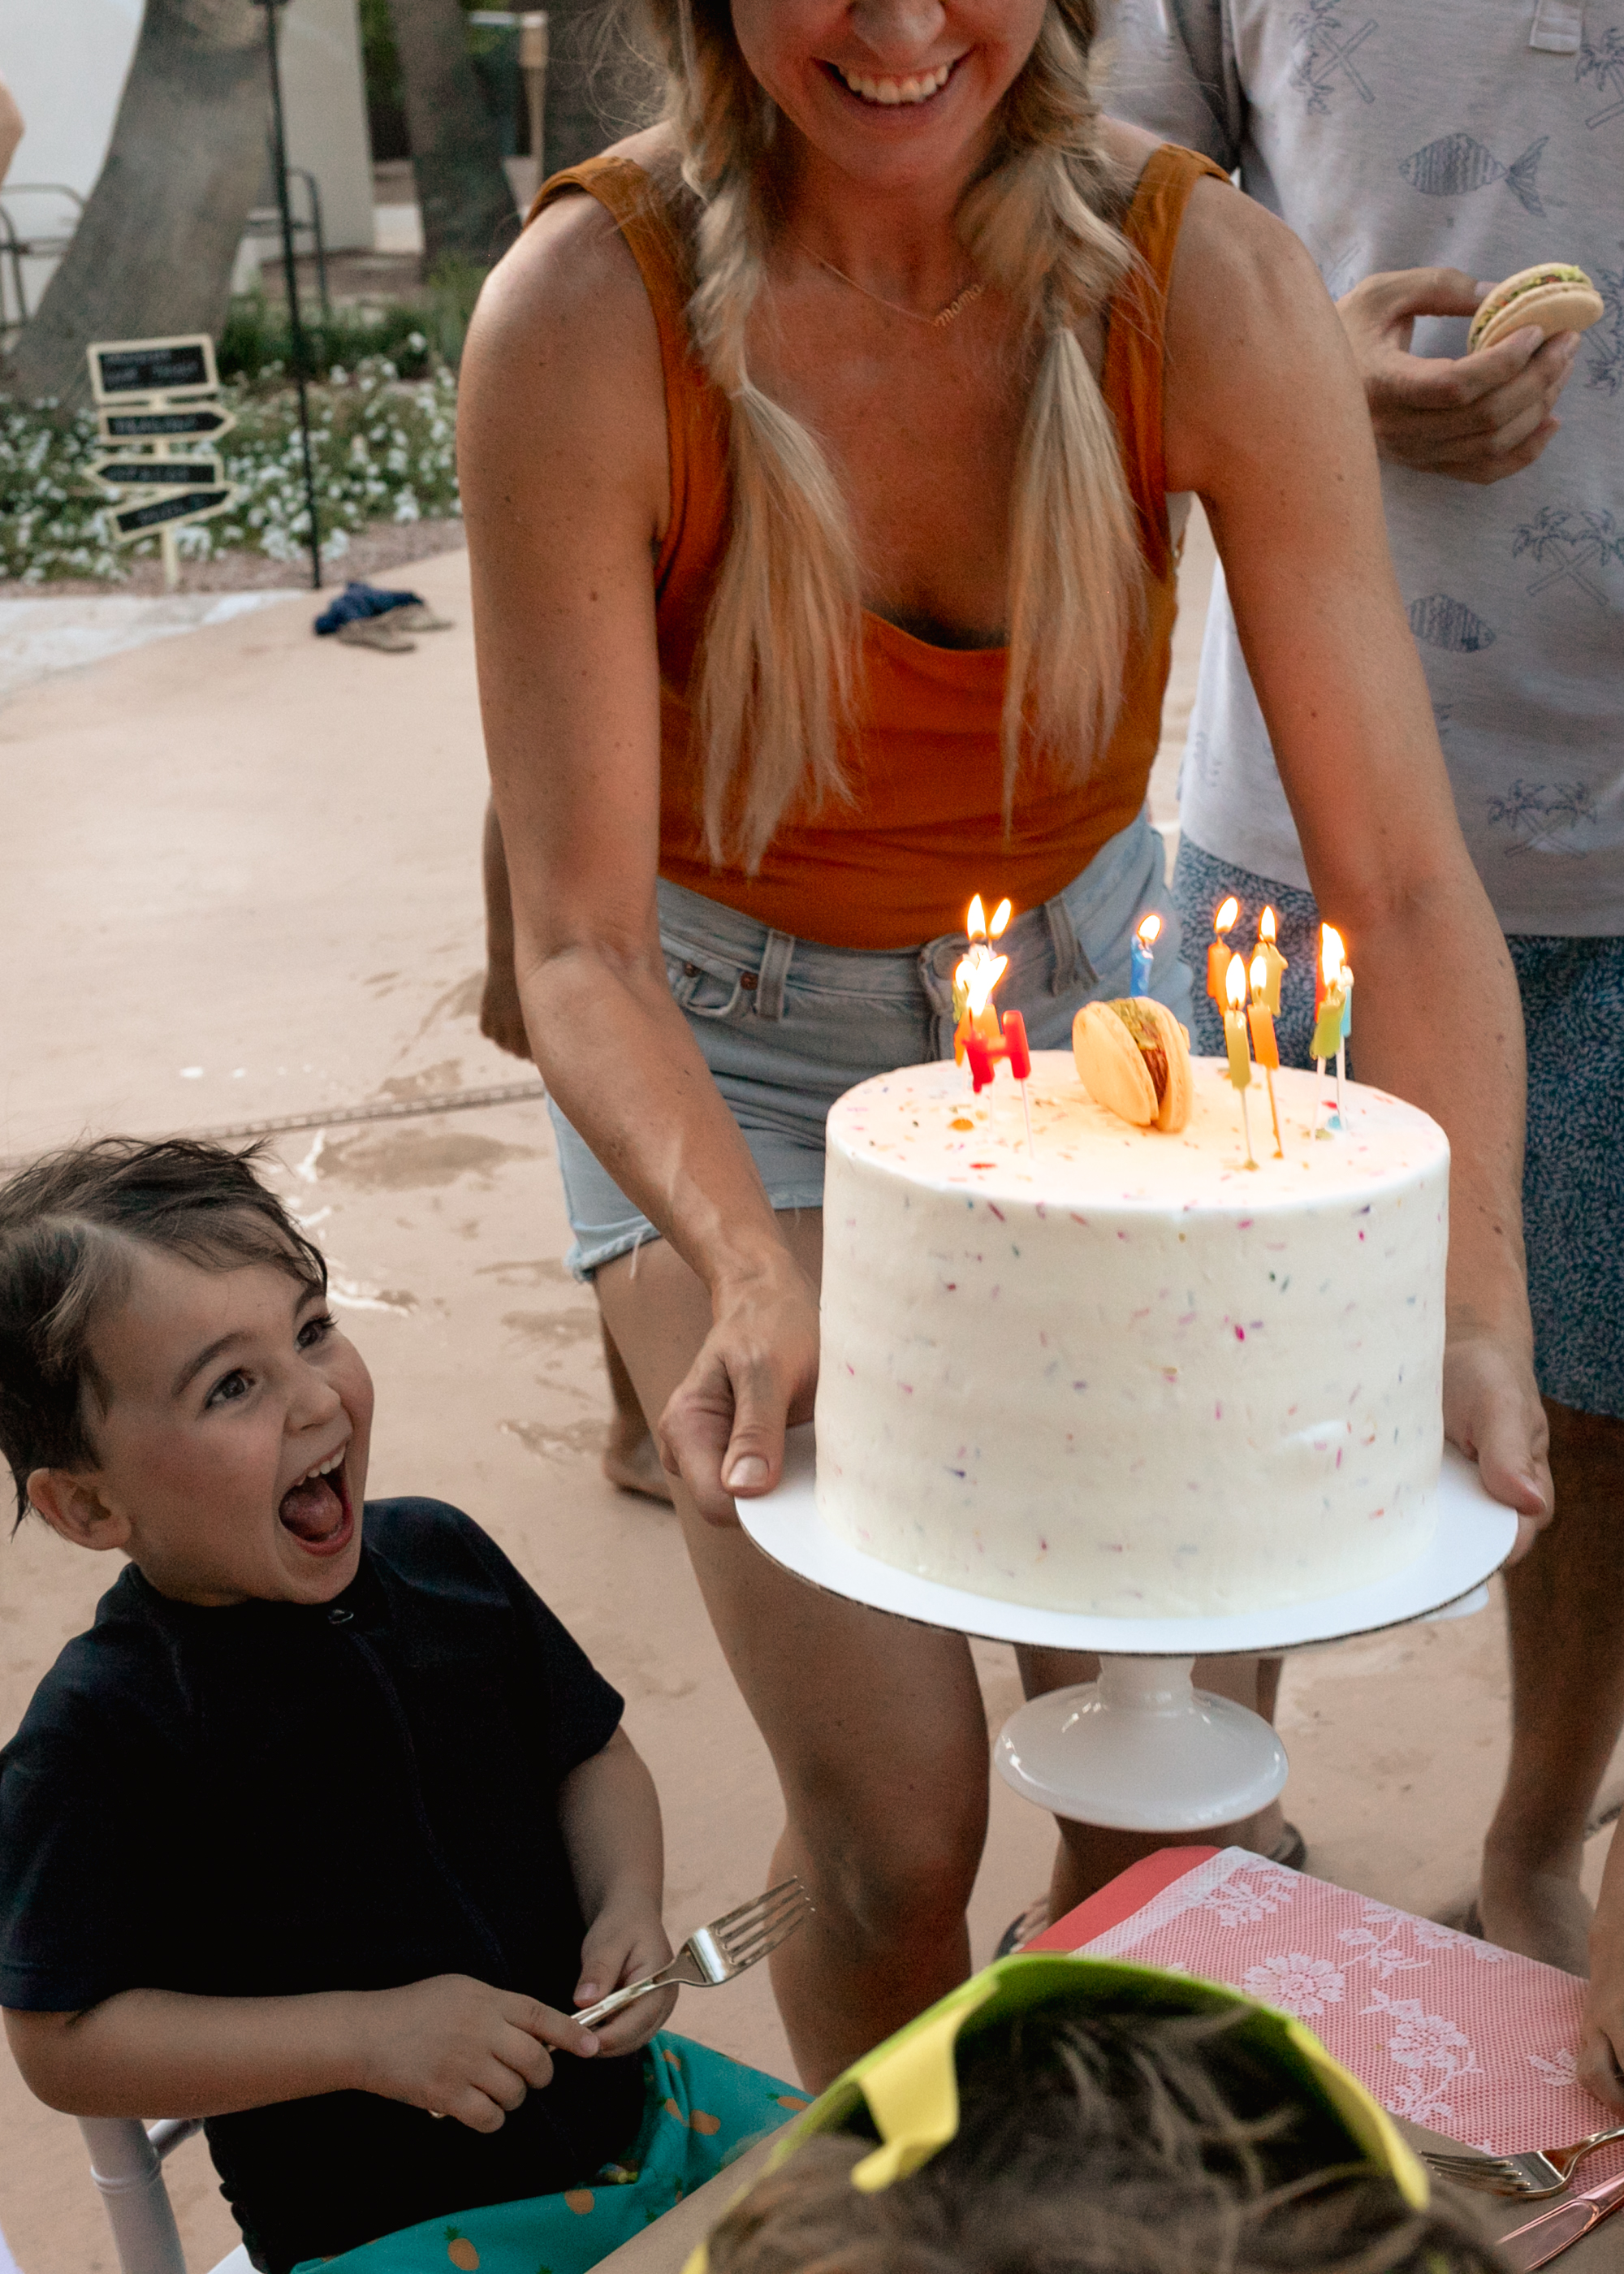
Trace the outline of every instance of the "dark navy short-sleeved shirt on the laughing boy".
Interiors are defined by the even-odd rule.
[[[571,2010],[557,1787],[621,1696],[455,1508],[373,1501],[362,1539],[332,1603],[202,1610],[134,1565],[102,1596],[0,1751],[0,2006],[473,1974]],[[364,2092],[212,2117],[255,2265],[591,2178],[641,2060],[553,2060],[489,2135]]]

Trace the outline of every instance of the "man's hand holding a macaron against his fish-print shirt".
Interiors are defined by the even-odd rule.
[[[1490,291],[1463,268],[1399,268],[1337,300],[1376,450],[1394,466],[1456,482],[1503,482],[1556,434],[1553,416],[1579,355],[1579,332],[1513,332],[1478,355],[1410,355],[1417,316],[1472,316]]]

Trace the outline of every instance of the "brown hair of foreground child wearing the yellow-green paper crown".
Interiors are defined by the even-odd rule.
[[[812,2138],[710,2238],[710,2274],[1492,2274],[1228,2015],[1033,2012],[960,2042],[960,2126],[869,2194],[873,2133]]]

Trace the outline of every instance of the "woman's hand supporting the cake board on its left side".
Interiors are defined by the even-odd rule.
[[[710,1335],[655,1430],[707,1524],[737,1524],[735,1496],[778,1483],[785,1428],[812,1419],[817,1335],[817,1289],[787,1248],[712,1287]]]

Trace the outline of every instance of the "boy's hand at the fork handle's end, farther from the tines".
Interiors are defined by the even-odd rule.
[[[598,2051],[594,2031],[569,2015],[466,1974],[359,1992],[357,2017],[359,2088],[469,2131],[500,2131],[525,2092],[553,2081],[550,2044]]]

